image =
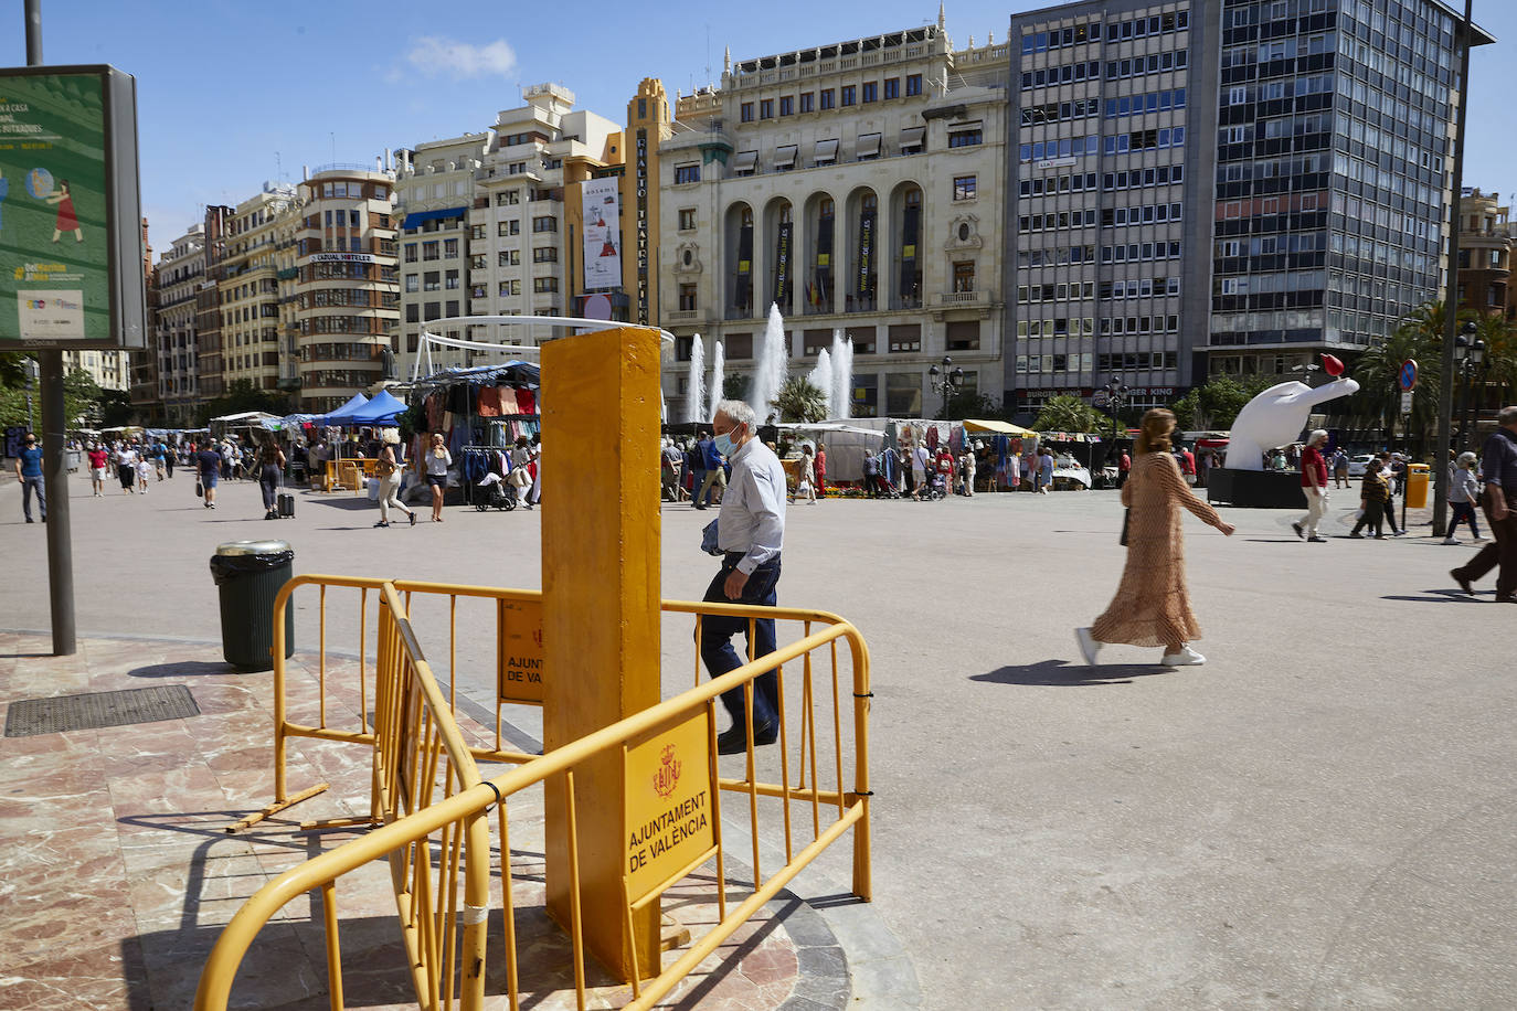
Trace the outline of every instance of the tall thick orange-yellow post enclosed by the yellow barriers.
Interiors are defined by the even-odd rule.
[[[620,327],[543,346],[543,747],[552,752],[658,703],[657,330]],[[569,461],[573,461],[572,464]],[[631,922],[625,764],[602,753],[575,770],[579,923],[619,979],[658,956],[658,903]],[[573,922],[570,820],[546,791],[548,911]]]

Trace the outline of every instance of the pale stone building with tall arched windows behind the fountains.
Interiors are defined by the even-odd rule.
[[[669,417],[695,335],[752,368],[771,305],[792,373],[834,330],[854,346],[851,412],[942,409],[945,355],[968,393],[1000,394],[1004,45],[954,52],[942,21],[728,61],[677,103],[660,146],[660,320]]]

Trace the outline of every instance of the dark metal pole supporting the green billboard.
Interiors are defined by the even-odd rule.
[[[26,0],[26,65],[42,65],[42,0]],[[68,458],[64,440],[64,353],[38,353],[42,367],[42,487],[47,490],[47,590],[53,612],[53,655],[73,656],[74,558],[68,529]]]

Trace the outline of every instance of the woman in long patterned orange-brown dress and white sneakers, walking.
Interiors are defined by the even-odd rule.
[[[1206,658],[1191,649],[1201,626],[1191,612],[1185,587],[1185,531],[1180,509],[1232,537],[1233,526],[1195,497],[1170,455],[1174,414],[1157,408],[1142,417],[1132,479],[1123,487],[1129,508],[1127,564],[1117,596],[1089,628],[1076,629],[1080,655],[1095,664],[1106,643],[1162,646],[1161,664],[1192,667]]]

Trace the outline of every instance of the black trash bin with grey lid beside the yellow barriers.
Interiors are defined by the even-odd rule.
[[[284,541],[231,541],[211,556],[221,596],[221,656],[241,670],[273,670],[275,597],[290,582]],[[294,608],[285,608],[285,656],[294,653]]]

